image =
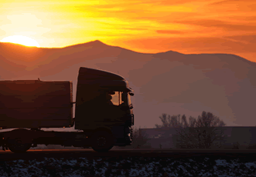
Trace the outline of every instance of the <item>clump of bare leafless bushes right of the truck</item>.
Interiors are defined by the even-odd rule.
[[[159,117],[162,125],[155,124],[156,128],[178,128],[177,134],[172,136],[172,140],[176,141],[176,148],[197,148],[209,149],[213,142],[215,145],[221,146],[221,141],[224,139],[224,132],[218,127],[226,125],[217,116],[211,112],[202,112],[202,115],[197,119],[189,117],[189,122],[186,120],[186,115],[180,119],[180,115],[162,114]]]

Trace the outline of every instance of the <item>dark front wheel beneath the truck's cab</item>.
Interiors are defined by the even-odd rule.
[[[91,136],[91,147],[96,152],[108,152],[114,146],[114,138],[108,132],[94,132]]]

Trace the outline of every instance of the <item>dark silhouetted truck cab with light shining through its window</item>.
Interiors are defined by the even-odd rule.
[[[134,125],[133,90],[121,75],[80,68],[77,78],[75,129],[87,135],[104,130],[114,136],[113,145],[131,145]]]

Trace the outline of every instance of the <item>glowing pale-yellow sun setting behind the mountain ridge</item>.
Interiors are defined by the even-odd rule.
[[[23,35],[8,36],[6,38],[3,38],[1,42],[11,42],[20,45],[26,45],[29,47],[40,47],[39,43],[36,42],[36,40]]]

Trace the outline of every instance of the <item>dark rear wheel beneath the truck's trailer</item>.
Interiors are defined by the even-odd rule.
[[[14,153],[24,153],[31,148],[32,143],[24,142],[22,138],[15,138],[9,139],[7,146]]]

